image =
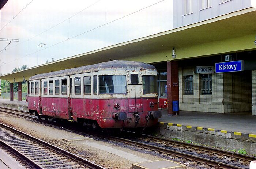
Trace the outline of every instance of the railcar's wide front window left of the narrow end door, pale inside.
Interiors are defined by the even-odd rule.
[[[126,93],[125,75],[99,76],[99,94]]]

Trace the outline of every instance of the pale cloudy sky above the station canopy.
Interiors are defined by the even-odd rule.
[[[0,41],[0,72],[171,29],[172,0],[8,0],[0,10],[0,38],[19,42]]]

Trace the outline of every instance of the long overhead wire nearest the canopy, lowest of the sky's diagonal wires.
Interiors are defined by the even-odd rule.
[[[60,44],[60,43],[65,42],[65,41],[68,41],[69,39],[72,39],[72,38],[78,37],[78,36],[80,36],[80,35],[83,35],[83,34],[85,34],[85,33],[88,33],[88,32],[90,32],[90,31],[93,31],[93,30],[95,30],[95,29],[97,29],[97,28],[100,28],[100,27],[105,26],[105,25],[107,25],[107,24],[113,23],[113,22],[115,22],[115,21],[117,21],[117,20],[123,19],[123,18],[125,18],[125,17],[127,17],[127,16],[129,16],[129,15],[135,14],[135,13],[137,13],[137,12],[139,12],[139,11],[142,11],[143,9],[146,9],[146,8],[152,7],[153,5],[156,5],[156,4],[161,3],[161,2],[163,2],[163,1],[165,1],[165,0],[158,1],[157,3],[151,4],[151,5],[147,6],[147,7],[144,7],[144,8],[142,8],[142,9],[139,9],[138,11],[132,12],[132,13],[130,13],[130,14],[128,14],[128,15],[122,16],[122,17],[120,17],[120,18],[118,18],[118,19],[115,19],[115,20],[112,20],[112,21],[110,21],[110,22],[108,22],[108,23],[104,23],[104,24],[102,24],[102,25],[100,25],[100,26],[98,26],[98,27],[95,27],[95,28],[93,28],[93,29],[91,29],[91,30],[85,31],[85,32],[83,32],[83,33],[81,33],[81,34],[75,35],[74,37],[71,37],[71,38],[65,39],[64,41],[61,41],[61,42],[55,43],[55,44],[53,44],[53,45],[51,45],[51,46],[45,47],[44,49],[41,49],[41,50],[48,49],[48,48],[50,48],[50,47],[52,47],[52,46],[55,46],[55,45],[58,45],[58,44]],[[41,51],[41,50],[39,50],[39,51]],[[29,56],[29,55],[34,54],[34,53],[37,53],[37,52],[35,51],[35,52],[30,53],[30,54],[28,54],[28,55],[26,55],[26,56],[23,56],[23,57],[17,58],[17,59],[15,59],[15,60],[12,60],[12,61],[10,61],[10,62],[17,61],[17,60],[19,60],[19,59],[21,59],[21,58],[25,58],[25,57],[27,57],[27,56]],[[10,63],[10,62],[7,62],[7,63]]]

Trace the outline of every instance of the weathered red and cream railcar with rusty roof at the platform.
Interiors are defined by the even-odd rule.
[[[154,66],[133,61],[99,64],[29,78],[29,111],[101,128],[155,125],[158,111]]]

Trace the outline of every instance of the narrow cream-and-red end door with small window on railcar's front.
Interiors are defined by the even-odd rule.
[[[142,112],[143,111],[143,100],[142,100],[142,84],[139,81],[138,73],[130,73],[130,80],[127,85],[129,93],[129,112]]]

